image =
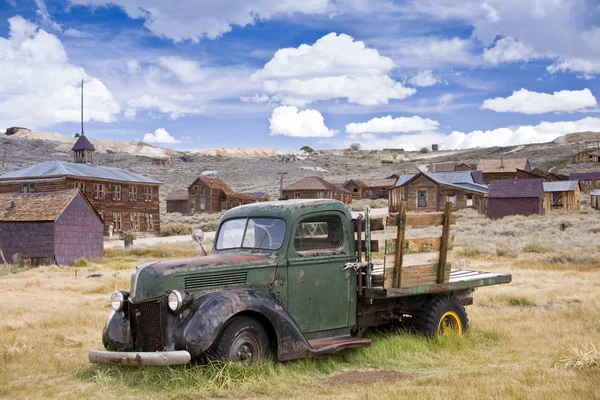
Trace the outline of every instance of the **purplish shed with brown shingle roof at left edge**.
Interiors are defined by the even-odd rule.
[[[101,258],[102,225],[77,189],[0,194],[0,250],[9,263],[70,265]]]

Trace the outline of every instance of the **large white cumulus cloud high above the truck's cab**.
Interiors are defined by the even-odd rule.
[[[279,49],[252,75],[265,93],[286,105],[345,98],[361,105],[387,104],[416,90],[388,76],[394,62],[348,35],[330,33],[313,45]]]

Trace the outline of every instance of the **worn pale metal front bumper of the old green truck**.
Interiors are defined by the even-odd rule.
[[[185,350],[161,352],[90,350],[88,358],[94,364],[166,366],[187,364],[192,356]]]

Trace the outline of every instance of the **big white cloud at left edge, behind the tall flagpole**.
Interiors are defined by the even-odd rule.
[[[0,126],[41,128],[78,122],[82,78],[85,120],[115,120],[121,109],[112,93],[69,63],[55,35],[19,16],[8,21],[9,36],[0,36]]]

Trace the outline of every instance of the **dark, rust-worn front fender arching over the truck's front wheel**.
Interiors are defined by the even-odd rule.
[[[248,313],[260,314],[262,319],[269,321],[277,337],[277,358],[280,361],[310,355],[310,345],[281,304],[249,289],[211,292],[196,299],[191,313],[180,320],[173,332],[175,348],[186,349],[192,357],[198,357],[210,348],[231,317]]]

